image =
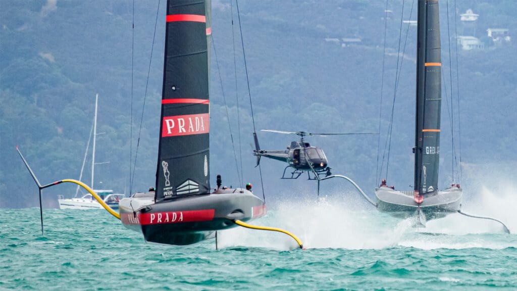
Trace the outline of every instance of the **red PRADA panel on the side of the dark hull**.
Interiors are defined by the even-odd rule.
[[[140,213],[141,225],[168,224],[183,222],[200,222],[214,220],[215,209],[189,210],[189,211],[167,211]]]

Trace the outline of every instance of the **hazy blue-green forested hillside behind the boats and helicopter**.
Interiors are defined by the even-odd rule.
[[[134,167],[137,144],[132,190],[154,185],[165,0],[158,3],[135,1],[132,29],[132,1],[0,0],[0,207],[37,205],[37,187],[16,152],[17,145],[41,183],[79,178],[96,93],[97,132],[103,133],[97,136],[96,161],[109,163],[96,166],[95,188],[129,194],[130,165]],[[385,5],[385,1],[360,0],[239,1],[257,130],[377,133],[382,110],[380,138],[306,138],[325,150],[333,173],[351,177],[369,193],[378,183],[376,171],[381,165],[382,176],[386,175],[382,158],[397,67],[400,79],[393,107],[388,183],[406,188],[413,182],[416,26],[401,25],[401,18],[416,20],[416,0],[388,0],[387,13]],[[457,59],[454,36],[456,31],[458,35],[463,32],[459,14],[468,8],[480,14],[475,34],[485,47],[472,51],[459,47]],[[472,169],[473,165],[515,165],[517,161],[512,147],[517,129],[517,38],[495,44],[486,36],[489,27],[509,28],[510,37],[515,35],[517,4],[510,0],[449,0],[440,1],[440,12],[445,81],[440,184],[446,185],[452,178],[451,112],[458,160],[461,139],[464,165]],[[253,125],[235,2],[212,2],[212,35],[218,57],[216,63],[212,47],[212,183],[220,173],[228,186],[239,184],[222,86],[237,159],[242,153],[243,182],[252,182],[260,191],[251,154]],[[295,138],[264,132],[258,137],[263,149],[284,149]],[[87,161],[90,157],[91,153]],[[238,167],[240,164],[238,161]],[[301,177],[279,180],[284,164],[263,159],[262,166],[269,201],[315,194],[312,181]],[[458,173],[458,168],[455,171]],[[89,166],[84,176],[89,184]],[[331,182],[323,188],[334,194],[338,190],[347,191],[349,186]],[[45,190],[44,206],[57,207],[56,195],[71,197],[73,193],[73,185]]]

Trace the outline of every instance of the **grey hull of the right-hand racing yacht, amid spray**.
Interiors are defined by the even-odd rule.
[[[381,212],[405,219],[415,216],[420,211],[429,221],[458,212],[461,206],[462,192],[460,188],[453,187],[445,191],[438,191],[434,195],[424,195],[423,202],[420,205],[415,202],[413,191],[402,192],[388,187],[380,187],[375,188],[375,197],[377,199],[377,209]]]

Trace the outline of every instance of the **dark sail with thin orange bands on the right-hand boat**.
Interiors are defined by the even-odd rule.
[[[438,189],[442,60],[438,0],[418,0],[414,190]]]

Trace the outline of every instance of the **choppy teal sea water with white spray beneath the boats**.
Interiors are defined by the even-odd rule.
[[[515,211],[494,212],[517,233]],[[218,251],[145,243],[103,210],[43,215],[44,236],[39,209],[0,209],[0,289],[517,290],[517,235],[457,214],[415,229],[344,201],[279,203],[253,223],[291,230],[307,250],[235,228]]]

